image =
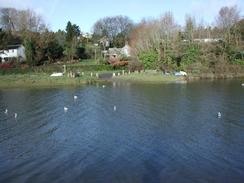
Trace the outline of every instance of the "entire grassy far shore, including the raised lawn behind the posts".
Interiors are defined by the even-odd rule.
[[[75,64],[66,65],[67,75],[71,71],[73,73],[80,72],[82,75],[77,78],[63,77],[50,77],[53,72],[63,72],[63,65],[46,65],[33,68],[11,68],[0,69],[0,88],[8,87],[56,87],[56,86],[79,86],[87,83],[94,83],[106,80],[106,77],[96,77],[96,73],[112,75],[116,73],[116,77],[112,78],[112,81],[130,81],[130,82],[147,82],[147,83],[171,83],[184,80],[199,80],[199,79],[226,79],[226,78],[244,78],[244,72],[241,67],[233,68],[230,70],[222,68],[221,72],[198,72],[191,74],[187,77],[177,77],[172,75],[163,75],[162,72],[156,72],[155,70],[146,70],[145,72],[133,72],[131,74],[125,74],[118,76],[118,72],[121,70],[114,70],[110,65],[99,65],[94,61],[83,61]],[[93,76],[91,76],[91,72]],[[84,73],[84,74],[83,74]],[[110,80],[110,76],[107,77]],[[102,79],[103,78],[103,79]]]

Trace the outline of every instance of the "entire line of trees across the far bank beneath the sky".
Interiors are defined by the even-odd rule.
[[[123,47],[129,42],[134,60],[145,68],[215,69],[243,64],[244,19],[238,7],[222,7],[212,26],[186,15],[179,25],[171,12],[135,24],[127,16],[97,20],[91,36],[68,22],[65,30],[52,32],[43,18],[32,10],[0,9],[0,50],[22,43],[29,65],[92,58],[94,50]],[[95,44],[96,43],[96,44]]]

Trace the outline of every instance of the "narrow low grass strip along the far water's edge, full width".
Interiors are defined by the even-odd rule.
[[[97,72],[98,73],[98,72]],[[201,79],[233,79],[244,78],[244,73],[239,74],[198,74],[188,76],[163,75],[162,72],[133,72],[130,74],[118,75],[112,77],[112,72],[99,72],[99,78],[93,73],[85,73],[83,76],[71,78],[67,76],[50,77],[47,73],[29,73],[29,74],[8,74],[0,75],[0,88],[20,88],[20,87],[60,87],[60,86],[81,86],[85,84],[104,82],[104,81],[126,81],[126,82],[144,82],[144,83],[174,83],[181,81],[194,81]]]

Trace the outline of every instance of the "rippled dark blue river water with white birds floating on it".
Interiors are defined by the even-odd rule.
[[[241,81],[6,89],[0,111],[1,183],[244,182]]]

